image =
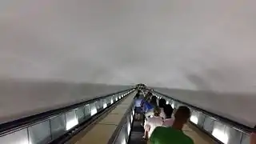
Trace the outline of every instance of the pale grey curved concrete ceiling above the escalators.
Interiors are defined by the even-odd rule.
[[[0,78],[256,93],[254,0],[5,0]]]

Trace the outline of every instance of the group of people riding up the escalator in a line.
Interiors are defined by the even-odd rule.
[[[182,127],[190,118],[190,109],[186,106],[174,110],[166,100],[148,92],[146,96],[138,90],[135,96],[135,119],[142,120],[143,138],[151,144],[194,144],[183,134]],[[175,111],[175,112],[174,112]]]

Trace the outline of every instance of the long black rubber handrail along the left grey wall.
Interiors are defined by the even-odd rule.
[[[28,126],[33,126],[33,125],[37,124],[38,122],[46,121],[47,119],[52,118],[56,115],[64,114],[64,113],[68,112],[69,110],[75,109],[79,106],[83,106],[83,105],[86,105],[87,103],[94,102],[98,99],[106,98],[111,95],[119,94],[119,93],[122,93],[122,92],[125,92],[128,90],[134,90],[134,88],[118,91],[113,94],[107,94],[105,96],[98,97],[98,98],[92,98],[90,100],[86,100],[85,102],[79,102],[79,103],[76,103],[71,106],[65,106],[62,108],[55,109],[55,110],[49,110],[49,111],[43,112],[41,114],[35,114],[35,115],[29,116],[26,118],[14,120],[12,122],[2,123],[0,125],[0,136],[13,133],[14,131],[22,130]]]

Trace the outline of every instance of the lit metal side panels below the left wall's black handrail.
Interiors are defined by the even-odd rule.
[[[134,92],[122,90],[0,125],[0,143],[66,143]]]

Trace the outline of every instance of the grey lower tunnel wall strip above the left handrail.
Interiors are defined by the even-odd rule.
[[[2,80],[0,81],[0,123],[70,106],[130,87],[90,83]]]

